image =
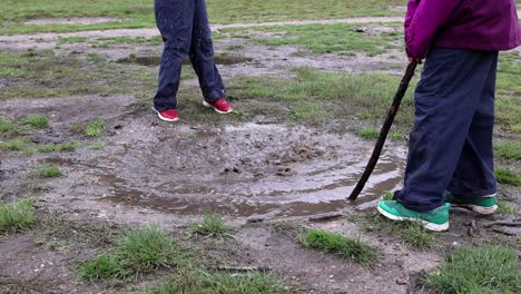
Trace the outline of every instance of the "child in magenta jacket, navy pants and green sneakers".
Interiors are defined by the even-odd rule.
[[[379,212],[449,228],[449,208],[497,209],[492,131],[498,55],[521,45],[514,0],[410,0],[410,61],[425,66],[414,95],[404,187]]]

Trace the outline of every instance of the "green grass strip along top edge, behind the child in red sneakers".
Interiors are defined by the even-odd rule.
[[[258,22],[275,20],[327,19],[366,16],[400,16],[403,12],[389,7],[403,4],[399,0],[213,0],[208,1],[212,22]],[[70,2],[66,0],[8,1],[2,8],[0,22],[13,26],[0,28],[0,35],[29,33],[37,31],[82,31],[115,28],[151,28],[155,26],[154,2],[142,0],[90,0]],[[33,18],[114,17],[119,20],[94,24],[23,24]]]

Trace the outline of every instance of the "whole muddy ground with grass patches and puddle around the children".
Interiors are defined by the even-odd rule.
[[[521,290],[519,48],[501,53],[498,76],[500,209],[455,208],[448,233],[430,233],[375,213],[403,182],[419,74],[370,182],[346,200],[405,69],[406,1],[208,0],[235,111],[201,106],[187,62],[176,124],[151,110],[151,1],[30,2],[0,12],[0,293]],[[513,253],[497,261],[507,285],[436,283],[451,254],[475,248]],[[478,267],[471,257],[459,266]]]

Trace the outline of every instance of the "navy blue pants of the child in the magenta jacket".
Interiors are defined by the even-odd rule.
[[[402,190],[405,207],[429,212],[445,190],[460,197],[495,193],[492,131],[497,51],[432,48],[417,85]]]

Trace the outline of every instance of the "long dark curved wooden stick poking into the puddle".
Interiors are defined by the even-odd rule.
[[[376,140],[376,145],[374,146],[373,155],[371,156],[371,159],[368,160],[367,166],[365,167],[365,171],[360,178],[358,184],[356,184],[356,187],[348,197],[348,199],[352,202],[356,200],[362,189],[364,189],[367,179],[370,178],[371,174],[374,170],[374,167],[376,166],[376,163],[379,161],[380,155],[382,154],[382,148],[385,144],[385,139],[387,138],[389,130],[391,129],[394,118],[396,117],[403,96],[405,96],[405,92],[407,91],[409,82],[411,82],[411,79],[414,76],[414,70],[416,69],[416,61],[413,61],[407,66],[407,70],[405,71],[405,75],[403,76],[402,81],[400,82],[399,90],[394,95],[393,104],[389,109],[387,117],[385,118],[385,122],[382,126],[382,130],[380,131],[379,139]]]

